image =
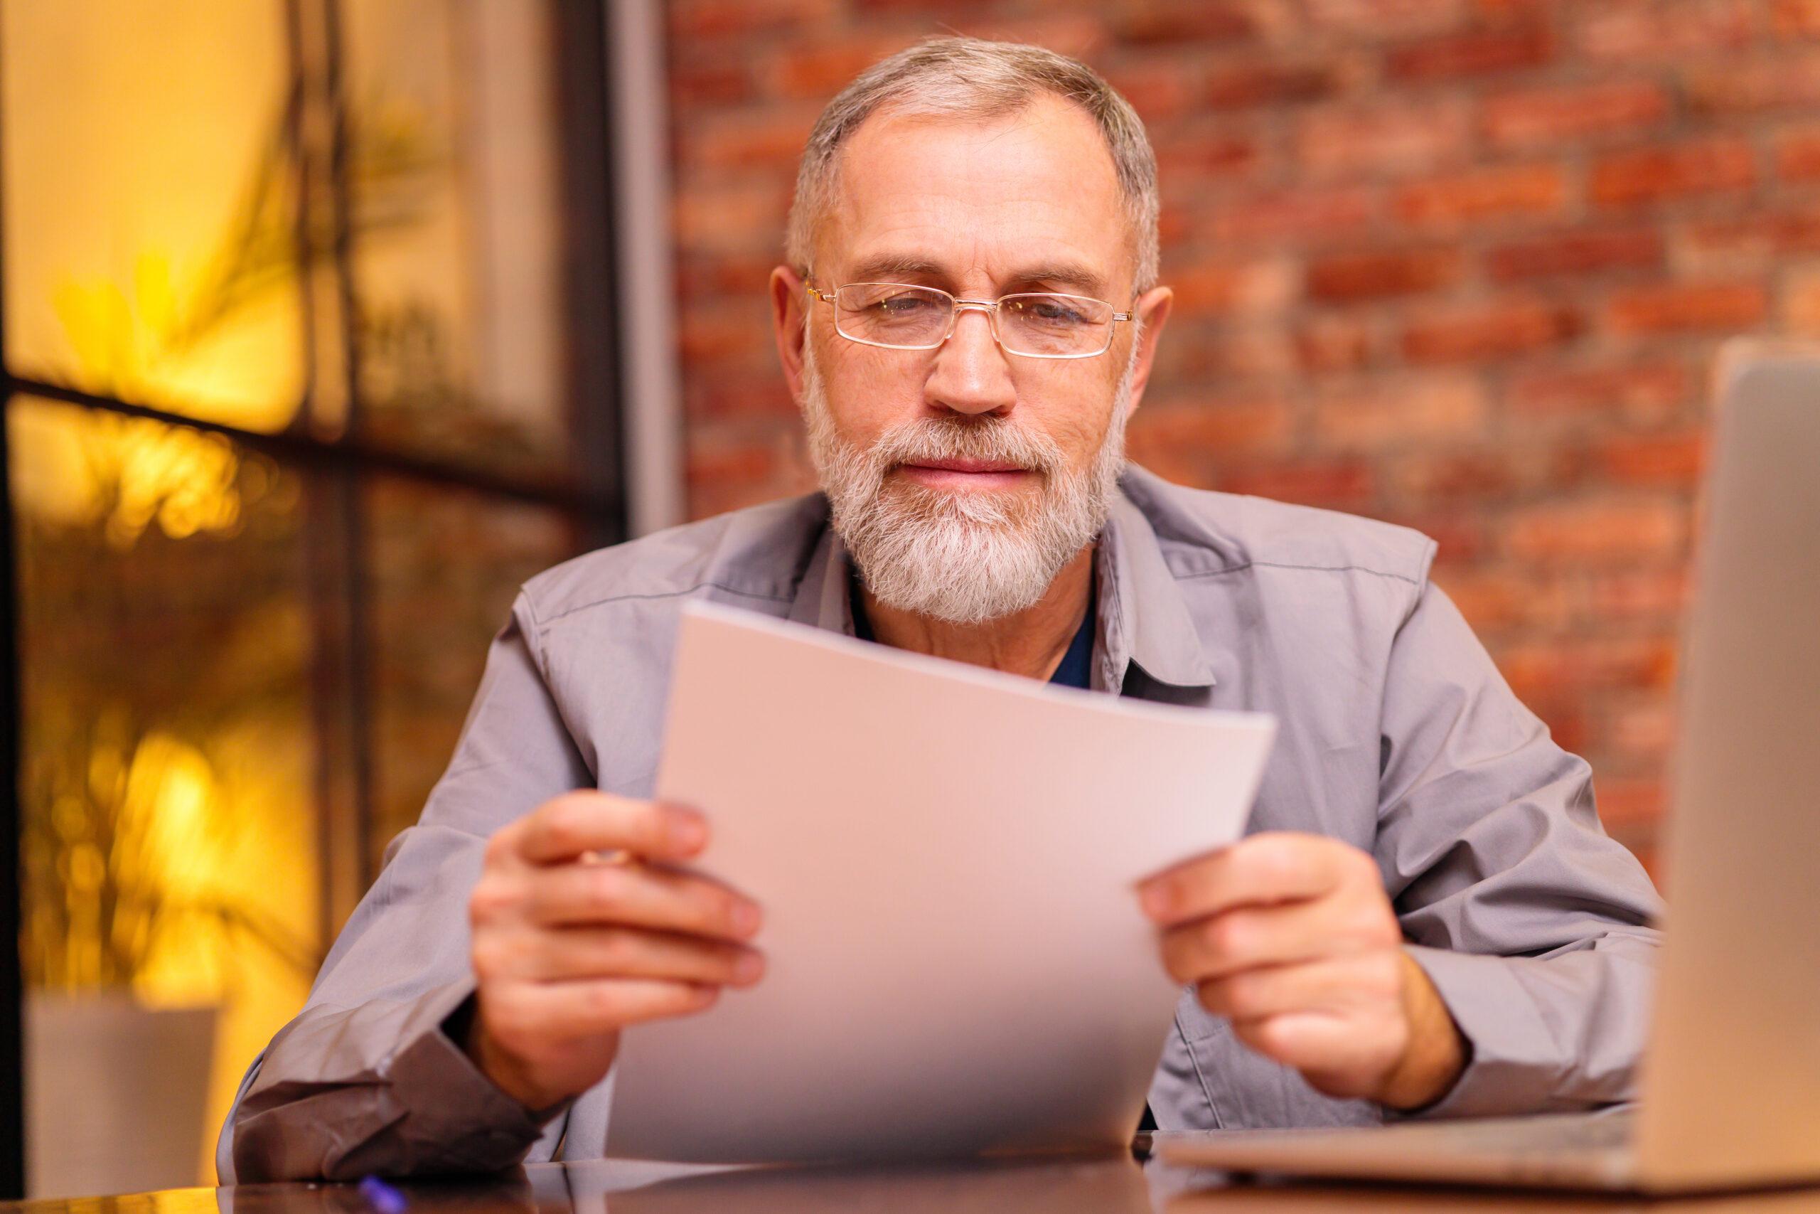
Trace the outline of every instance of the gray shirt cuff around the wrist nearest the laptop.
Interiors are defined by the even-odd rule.
[[[1483,1118],[1545,1108],[1565,1059],[1534,999],[1518,981],[1518,959],[1405,945],[1421,966],[1471,1057],[1449,1092],[1390,1118]]]

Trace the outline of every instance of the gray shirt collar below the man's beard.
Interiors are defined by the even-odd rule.
[[[1096,686],[1119,690],[1132,663],[1158,683],[1214,686],[1201,635],[1163,561],[1156,531],[1123,491],[1112,499],[1094,559],[1099,588]],[[846,544],[824,526],[797,584],[790,619],[854,635],[852,577]]]

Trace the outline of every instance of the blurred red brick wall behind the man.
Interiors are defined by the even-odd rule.
[[[1820,333],[1816,0],[675,0],[688,491],[810,484],[764,275],[819,107],[956,29],[1150,126],[1176,319],[1134,457],[1418,526],[1649,852],[1718,342]]]

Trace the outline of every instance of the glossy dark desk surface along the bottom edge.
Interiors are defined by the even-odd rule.
[[[1440,1189],[1232,1185],[1125,1156],[897,1167],[673,1168],[544,1163],[470,1183],[399,1185],[408,1214],[1820,1214],[1820,1189],[1643,1201]],[[0,1203],[0,1214],[391,1214],[355,1185],[173,1189],[126,1198]]]

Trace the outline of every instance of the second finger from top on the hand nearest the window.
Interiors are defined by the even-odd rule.
[[[646,865],[561,865],[533,874],[530,917],[546,926],[622,925],[750,939],[759,906],[750,897],[682,872]]]

